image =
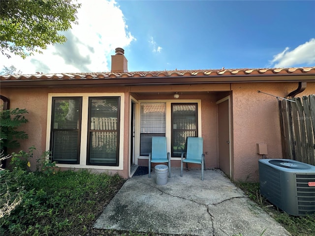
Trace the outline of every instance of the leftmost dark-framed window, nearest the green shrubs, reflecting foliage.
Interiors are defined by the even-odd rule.
[[[53,161],[79,163],[81,107],[81,97],[53,97],[50,139]]]

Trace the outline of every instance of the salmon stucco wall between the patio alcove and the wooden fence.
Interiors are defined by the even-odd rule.
[[[265,158],[283,158],[278,100],[276,97],[258,93],[263,91],[275,96],[286,95],[297,88],[297,83],[251,83],[232,84],[233,92],[233,151],[234,179],[259,181],[256,145],[266,144]],[[298,94],[315,93],[315,83],[308,83],[307,89]]]

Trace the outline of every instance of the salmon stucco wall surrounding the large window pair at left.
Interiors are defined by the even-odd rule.
[[[121,92],[122,88],[73,88],[71,92]],[[22,140],[21,147],[15,150],[8,150],[9,152],[18,152],[19,150],[27,151],[30,147],[34,146],[36,150],[33,151],[33,158],[31,162],[31,170],[36,168],[36,159],[40,158],[42,153],[46,149],[46,130],[47,130],[47,104],[48,93],[51,92],[69,92],[68,88],[2,88],[1,95],[10,99],[10,108],[20,108],[28,110],[28,114],[25,117],[29,120],[28,123],[20,127],[28,135],[29,139]],[[129,110],[128,97],[125,99],[125,109]],[[125,113],[128,116],[128,112]],[[124,120],[124,125],[128,124],[128,119]],[[125,129],[125,132],[127,130]],[[128,136],[124,135],[124,143],[127,142]],[[122,142],[123,143],[123,142]],[[124,147],[124,156],[128,155],[128,145]],[[93,169],[94,172],[108,172],[110,174],[118,173],[124,178],[128,177],[128,162],[124,160],[124,170],[100,170]],[[58,164],[57,164],[58,166]],[[66,169],[66,168],[64,168]]]

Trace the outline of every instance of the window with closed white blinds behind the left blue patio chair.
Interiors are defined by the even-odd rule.
[[[165,103],[141,103],[140,155],[148,156],[152,150],[152,137],[165,137]]]

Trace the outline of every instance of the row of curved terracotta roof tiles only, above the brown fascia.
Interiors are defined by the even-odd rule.
[[[314,67],[292,68],[261,68],[261,69],[209,69],[209,70],[173,70],[173,71],[135,71],[135,72],[91,72],[91,73],[58,73],[58,74],[28,74],[0,75],[0,81],[13,80],[83,80],[106,78],[144,78],[144,77],[218,77],[218,76],[259,76],[259,75],[315,75]]]

